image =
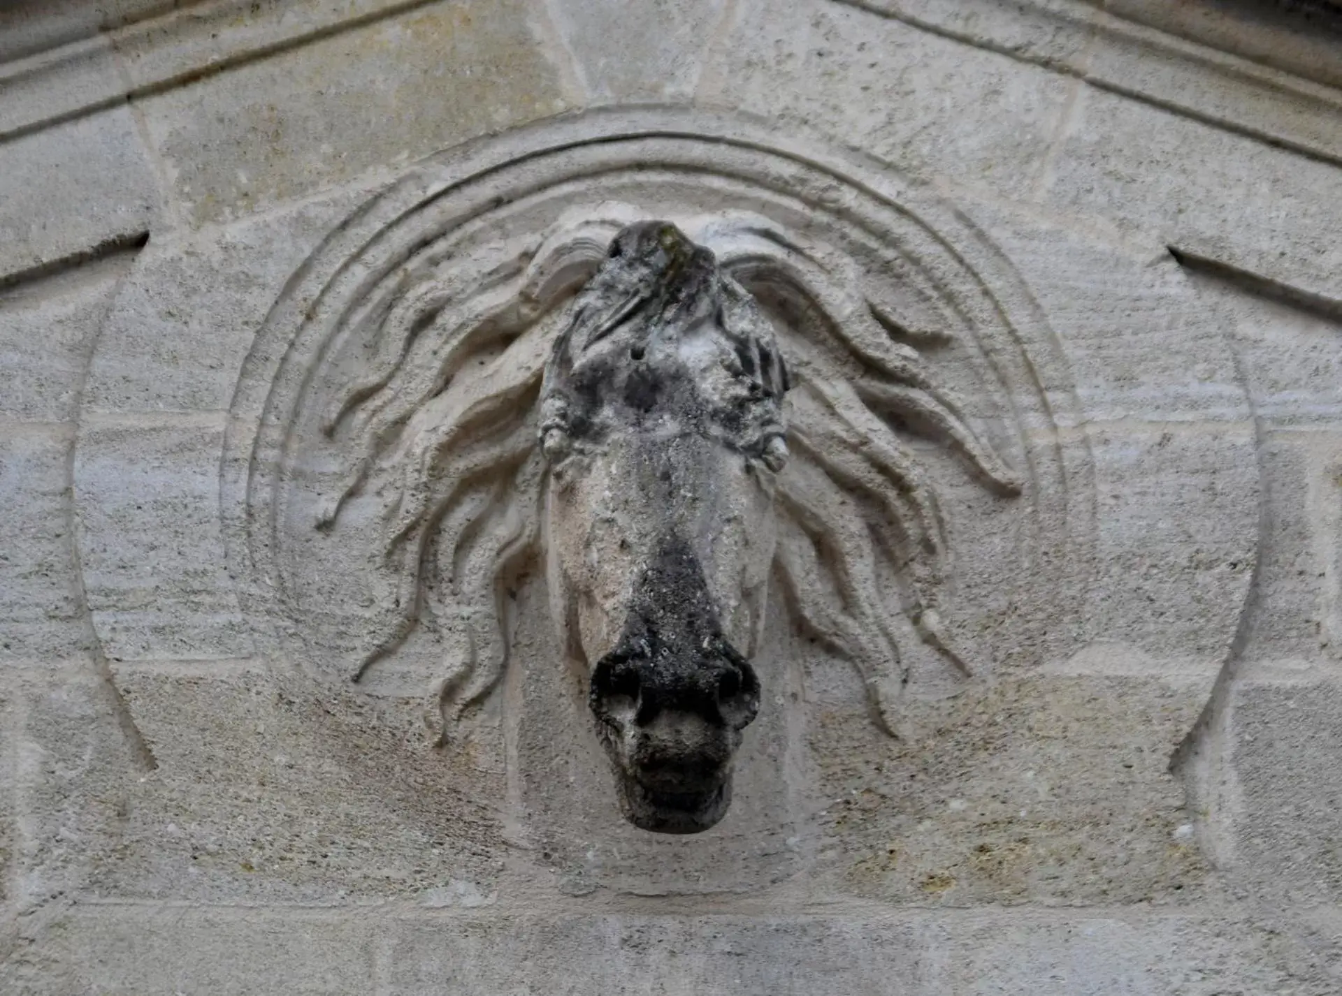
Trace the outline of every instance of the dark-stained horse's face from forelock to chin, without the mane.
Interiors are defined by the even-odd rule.
[[[760,708],[786,389],[754,300],[662,221],[616,236],[545,371],[553,611],[646,830],[706,830],[731,799]]]

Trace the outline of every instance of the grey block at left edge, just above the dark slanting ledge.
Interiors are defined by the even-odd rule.
[[[158,190],[130,111],[101,111],[0,147],[0,275],[133,240]]]

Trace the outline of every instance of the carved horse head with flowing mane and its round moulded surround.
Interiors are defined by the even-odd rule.
[[[544,586],[623,811],[698,831],[781,694],[770,619],[899,736],[1062,638],[993,602],[1044,564],[1079,594],[1091,507],[1066,367],[982,236],[860,161],[672,118],[517,133],[352,216],[258,336],[225,511],[309,673],[429,690],[448,748]]]

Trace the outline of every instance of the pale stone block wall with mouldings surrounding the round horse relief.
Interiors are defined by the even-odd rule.
[[[1337,19],[1270,3],[0,5],[0,989],[1342,989],[1339,86]],[[923,740],[778,627],[804,705],[675,841],[589,788],[541,593],[454,756],[295,693],[220,484],[333,229],[625,105],[858,150],[996,245],[1094,505],[1048,639]]]

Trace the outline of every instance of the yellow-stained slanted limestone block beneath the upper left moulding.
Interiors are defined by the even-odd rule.
[[[146,98],[176,197],[234,219],[568,110],[529,8],[425,4]]]

